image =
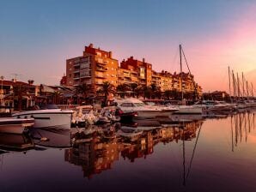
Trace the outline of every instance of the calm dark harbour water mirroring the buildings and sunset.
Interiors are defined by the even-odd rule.
[[[256,191],[253,113],[137,133],[1,135],[0,191]]]

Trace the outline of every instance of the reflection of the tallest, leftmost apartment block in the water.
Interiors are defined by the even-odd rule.
[[[65,161],[82,166],[83,176],[90,178],[112,168],[113,162],[119,159],[119,142],[116,138],[106,140],[92,135],[88,141],[66,149],[64,157]]]

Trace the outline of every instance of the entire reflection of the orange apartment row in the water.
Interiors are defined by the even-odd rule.
[[[119,160],[119,154],[123,159],[134,162],[154,153],[158,143],[191,141],[196,138],[197,129],[202,123],[197,121],[143,130],[141,135],[134,134],[134,137],[122,135],[106,138],[102,132],[94,132],[84,135],[84,139],[80,136],[79,140],[75,140],[73,147],[65,149],[64,159],[70,164],[81,166],[83,176],[91,178],[94,174],[110,170],[113,163]]]

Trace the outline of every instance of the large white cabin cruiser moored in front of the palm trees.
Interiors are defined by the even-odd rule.
[[[159,107],[145,105],[139,99],[115,99],[114,102],[124,112],[137,112],[137,118],[154,118],[170,116],[172,112],[177,111],[177,108],[172,107]]]

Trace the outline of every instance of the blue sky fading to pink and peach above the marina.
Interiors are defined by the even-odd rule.
[[[181,44],[204,92],[228,90],[228,66],[256,87],[255,23],[254,0],[0,0],[0,75],[57,85],[90,43],[180,72]]]

